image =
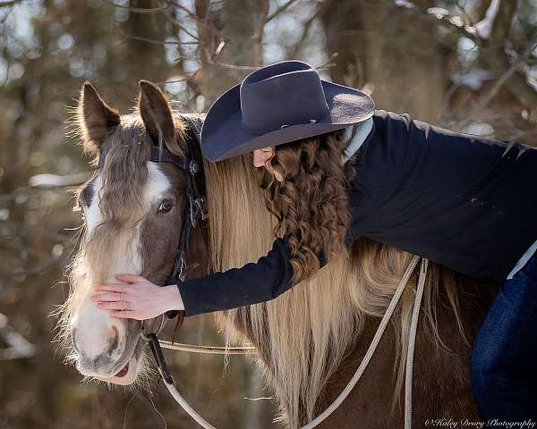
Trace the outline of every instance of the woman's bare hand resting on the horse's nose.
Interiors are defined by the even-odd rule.
[[[98,308],[114,317],[145,320],[170,310],[183,310],[176,285],[157,286],[140,275],[119,274],[119,282],[98,284],[91,296]]]

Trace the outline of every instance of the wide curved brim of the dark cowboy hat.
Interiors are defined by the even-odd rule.
[[[201,153],[209,161],[222,161],[256,149],[341,130],[373,115],[375,104],[364,92],[321,80],[329,114],[321,121],[286,126],[265,134],[243,128],[241,85],[229,89],[210,107],[201,129]],[[284,124],[282,124],[284,125]]]

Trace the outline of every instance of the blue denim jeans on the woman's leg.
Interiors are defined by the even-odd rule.
[[[502,285],[477,333],[472,389],[485,422],[537,420],[537,254]]]

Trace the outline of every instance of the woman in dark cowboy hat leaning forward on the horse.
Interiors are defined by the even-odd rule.
[[[132,284],[99,285],[98,307],[147,319],[267,301],[366,236],[502,284],[474,344],[473,391],[486,419],[537,416],[537,150],[375,111],[297,61],[220,97],[201,148],[210,161],[252,152],[284,237],[257,263],[178,285],[118,276]]]

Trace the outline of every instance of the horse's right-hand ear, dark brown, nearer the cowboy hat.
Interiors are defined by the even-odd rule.
[[[158,146],[162,140],[172,152],[176,153],[180,150],[174,116],[169,102],[160,88],[149,80],[140,80],[138,110],[146,130],[148,130],[149,137],[155,145]]]

